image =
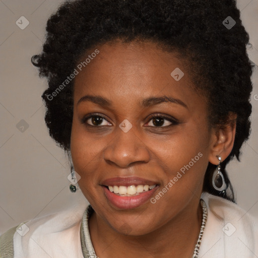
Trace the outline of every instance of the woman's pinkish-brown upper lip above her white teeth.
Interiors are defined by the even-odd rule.
[[[101,182],[102,185],[123,185],[123,186],[130,186],[130,185],[138,185],[138,184],[148,184],[148,185],[154,185],[158,184],[155,181],[137,177],[137,176],[129,176],[129,177],[112,177],[105,179],[104,181]]]

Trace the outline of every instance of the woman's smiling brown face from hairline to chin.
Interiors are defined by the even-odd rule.
[[[97,50],[74,82],[74,167],[102,221],[146,234],[197,209],[212,139],[207,103],[185,63],[154,43]]]

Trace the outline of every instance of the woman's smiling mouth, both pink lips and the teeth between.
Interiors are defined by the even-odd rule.
[[[157,189],[157,182],[139,177],[114,177],[101,183],[112,206],[134,209],[146,203]]]

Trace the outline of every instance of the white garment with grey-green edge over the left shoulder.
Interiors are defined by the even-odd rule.
[[[8,230],[0,238],[0,257],[83,257],[80,226],[86,208],[87,203]]]

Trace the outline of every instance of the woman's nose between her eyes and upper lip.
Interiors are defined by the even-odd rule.
[[[124,133],[119,127],[116,136],[108,143],[104,150],[104,159],[107,163],[115,164],[120,168],[128,168],[134,163],[148,163],[150,152],[142,139],[132,129]]]

